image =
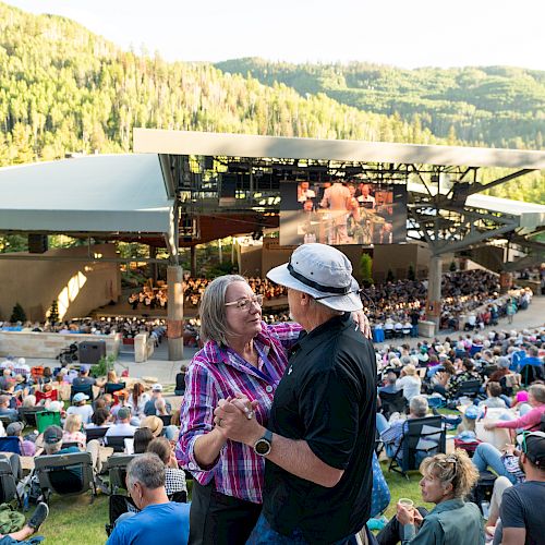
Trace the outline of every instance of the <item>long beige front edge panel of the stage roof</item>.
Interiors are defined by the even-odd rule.
[[[137,153],[545,169],[545,152],[134,129]]]

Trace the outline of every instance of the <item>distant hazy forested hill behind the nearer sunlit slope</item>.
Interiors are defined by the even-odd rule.
[[[365,63],[289,64],[262,59],[219,62],[225,72],[283,83],[304,94],[392,116],[441,138],[475,146],[542,149],[545,72],[507,66],[417,69]]]

